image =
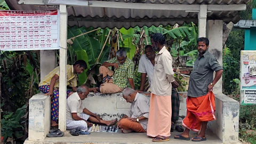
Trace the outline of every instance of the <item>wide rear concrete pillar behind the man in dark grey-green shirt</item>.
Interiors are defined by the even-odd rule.
[[[222,66],[222,20],[207,21],[207,37],[209,38],[209,52],[212,53]],[[215,76],[215,73],[214,73]],[[213,87],[214,93],[222,93],[222,77]]]

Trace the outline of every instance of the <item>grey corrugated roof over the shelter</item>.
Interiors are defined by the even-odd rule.
[[[94,0],[96,1],[96,0]],[[154,3],[154,4],[246,4],[250,0],[107,0],[121,3]],[[45,10],[54,7],[18,4],[18,0],[8,0],[6,3],[13,10]],[[184,22],[197,23],[197,12],[169,10],[138,10],[103,7],[68,7],[68,25],[101,27],[101,28],[130,28],[135,26],[182,25]],[[238,11],[212,11],[207,13],[207,19],[221,19],[226,23],[240,20]]]

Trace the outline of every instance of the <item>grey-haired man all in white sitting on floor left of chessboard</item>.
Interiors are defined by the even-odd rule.
[[[81,131],[87,131],[87,127],[92,126],[92,123],[106,124],[107,126],[116,124],[117,119],[112,121],[104,121],[82,105],[82,100],[87,98],[88,94],[88,87],[82,85],[78,87],[77,92],[68,97],[66,111],[67,130],[79,128]],[[87,122],[87,120],[92,123]]]

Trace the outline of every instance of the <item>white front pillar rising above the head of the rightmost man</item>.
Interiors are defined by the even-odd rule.
[[[207,5],[200,5],[198,12],[198,37],[206,37]]]

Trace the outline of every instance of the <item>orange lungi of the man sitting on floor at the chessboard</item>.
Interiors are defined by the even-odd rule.
[[[131,129],[135,132],[146,132],[140,123],[132,122],[126,118],[121,119],[120,127],[121,127],[121,129],[125,129],[125,130]]]

